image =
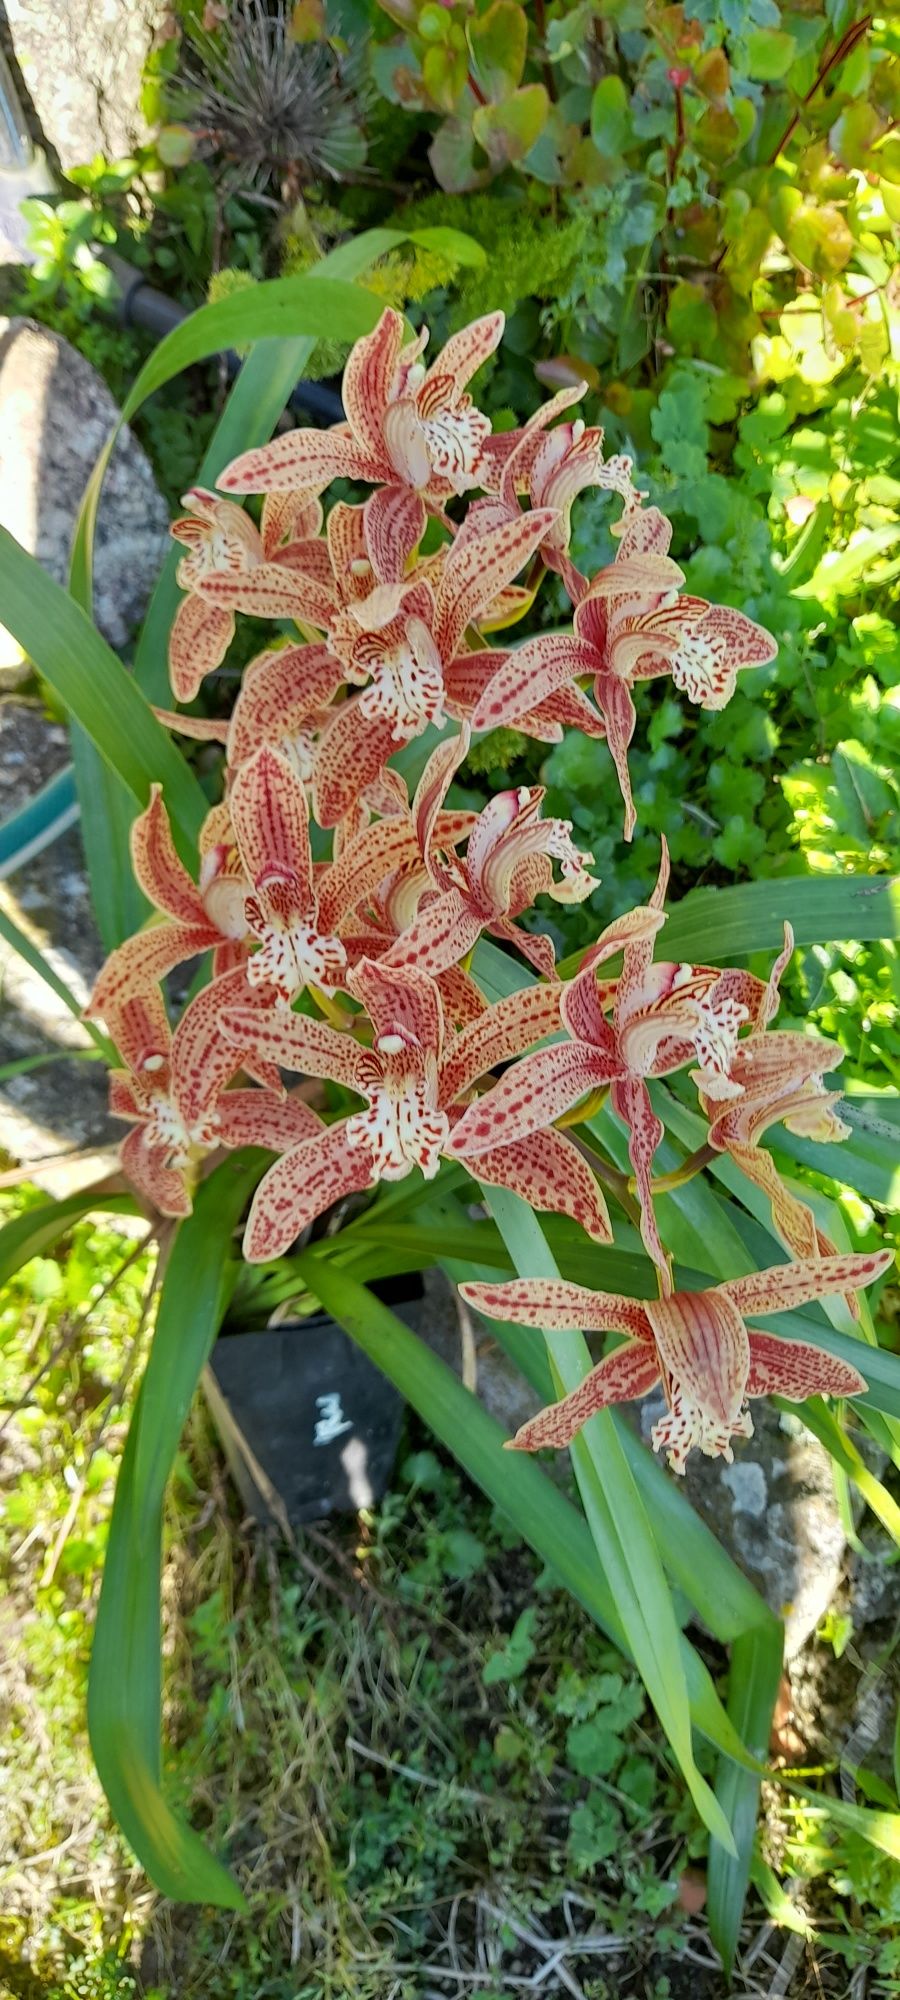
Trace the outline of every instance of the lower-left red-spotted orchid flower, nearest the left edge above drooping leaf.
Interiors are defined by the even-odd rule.
[[[110,1008],[124,1062],[110,1072],[110,1110],[134,1126],[120,1148],[122,1168],[164,1216],[190,1216],[198,1168],[218,1148],[284,1152],[320,1130],[308,1104],[284,1094],[278,1070],[256,1072],[260,1090],[226,1088],[252,1066],[218,1028],[220,1010],[238,998],[248,998],[240,968],[204,986],[174,1034],[158,986]]]

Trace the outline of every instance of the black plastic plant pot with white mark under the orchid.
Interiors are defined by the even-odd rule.
[[[418,1328],[420,1278],[374,1290]],[[224,1332],[204,1392],[234,1484],[256,1520],[298,1526],[354,1514],[384,1494],[404,1400],[328,1314],[262,1332]]]

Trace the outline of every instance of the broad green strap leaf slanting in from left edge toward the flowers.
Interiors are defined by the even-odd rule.
[[[192,770],[88,614],[6,528],[0,528],[0,602],[4,624],[110,770],[142,806],[158,780],[182,844],[188,852],[196,848],[206,798]]]

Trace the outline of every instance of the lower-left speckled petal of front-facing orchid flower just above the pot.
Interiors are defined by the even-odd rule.
[[[316,1138],[282,1154],[260,1180],[244,1232],[248,1264],[284,1256],[316,1216],[374,1184],[372,1154],[366,1146],[348,1146],[344,1120],[316,1132]]]

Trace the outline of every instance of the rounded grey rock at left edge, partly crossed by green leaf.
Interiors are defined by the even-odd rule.
[[[34,320],[0,320],[0,522],[64,584],[78,508],[116,422],[98,376]],[[94,616],[120,650],[138,626],[168,546],[168,510],[150,462],[122,430],[106,472],[94,540]],[[24,654],[0,628],[0,688]]]

